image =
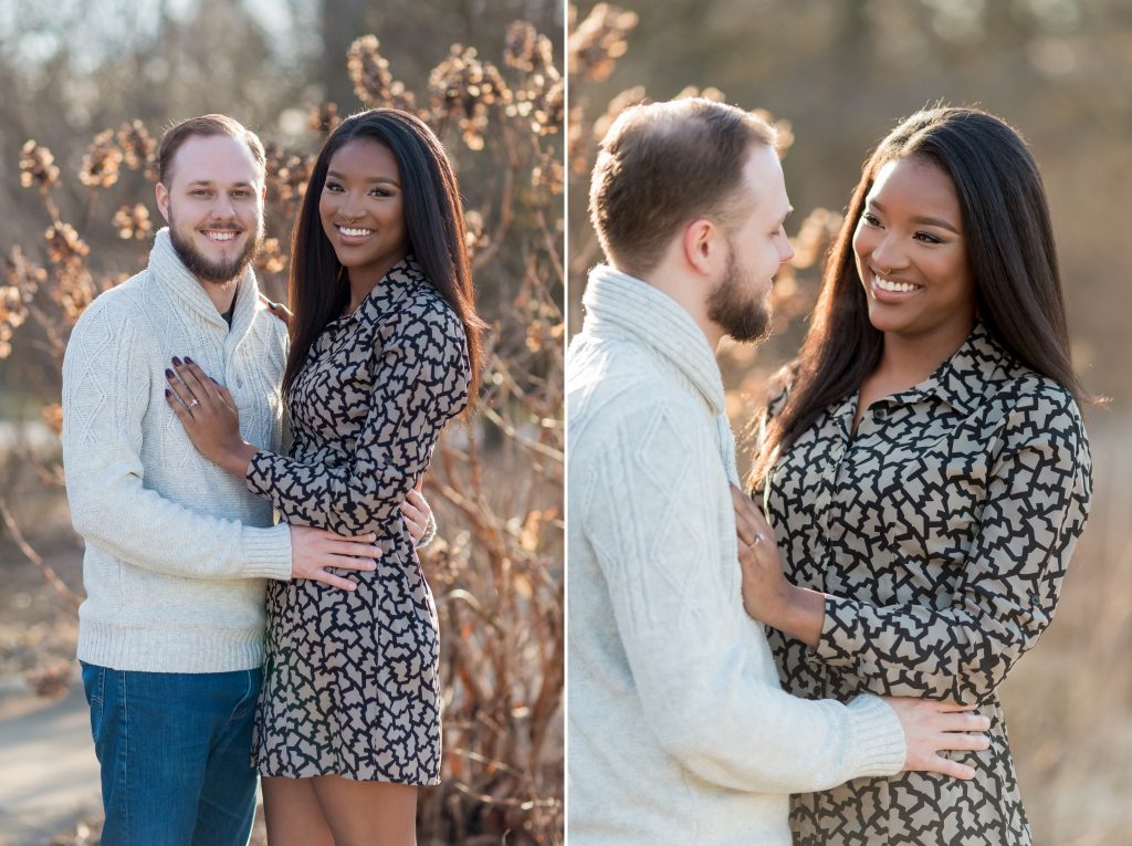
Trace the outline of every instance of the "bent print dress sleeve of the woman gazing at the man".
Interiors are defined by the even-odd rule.
[[[936,609],[831,596],[814,653],[875,693],[983,701],[1053,619],[1091,490],[1072,400],[1021,403],[1006,421],[955,603]]]

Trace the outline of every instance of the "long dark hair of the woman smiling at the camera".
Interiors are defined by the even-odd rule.
[[[349,287],[337,282],[343,268],[323,231],[318,200],[331,159],[359,139],[388,147],[397,161],[409,251],[464,325],[471,365],[469,395],[474,401],[479,388],[480,331],[484,324],[475,314],[460,188],[432,130],[419,118],[397,109],[371,109],[346,118],[326,139],[315,162],[291,236],[288,294],[294,317],[283,393],[286,395],[302,370],[311,344],[349,302]]]

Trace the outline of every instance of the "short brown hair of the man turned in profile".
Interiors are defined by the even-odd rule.
[[[762,118],[702,97],[623,111],[590,183],[590,219],[606,256],[640,276],[680,227],[700,217],[730,225],[749,151],[775,142]]]

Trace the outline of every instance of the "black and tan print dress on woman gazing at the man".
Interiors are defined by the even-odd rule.
[[[856,404],[829,408],[763,492],[787,576],[831,595],[816,649],[769,630],[783,686],[979,702],[990,749],[953,755],[972,781],[904,772],[795,796],[795,844],[1026,846],[995,689],[1049,624],[1084,528],[1078,408],[981,324],[851,434]]]

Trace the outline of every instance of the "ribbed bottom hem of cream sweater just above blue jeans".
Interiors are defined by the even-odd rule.
[[[264,663],[264,630],[80,619],[78,658],[139,673],[231,673]]]

